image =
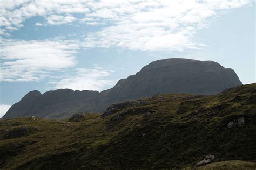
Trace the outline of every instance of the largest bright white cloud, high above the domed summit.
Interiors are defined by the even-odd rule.
[[[94,2],[92,6],[98,10],[88,16],[104,18],[113,24],[87,34],[83,45],[85,48],[120,47],[141,51],[197,49],[202,44],[194,36],[207,27],[210,17],[250,2],[114,1],[109,6],[105,6],[105,1]]]

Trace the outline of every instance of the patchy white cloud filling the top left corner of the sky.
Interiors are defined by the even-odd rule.
[[[23,22],[33,16],[43,16],[46,23],[64,24],[75,19],[72,13],[86,13],[86,1],[32,1],[32,0],[0,0],[0,23],[6,30],[19,29]],[[65,15],[61,16],[61,15]],[[47,19],[50,18],[50,19]]]

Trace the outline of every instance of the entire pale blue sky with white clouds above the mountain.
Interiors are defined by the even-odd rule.
[[[31,90],[106,90],[165,58],[254,83],[254,0],[0,0],[0,117]]]

